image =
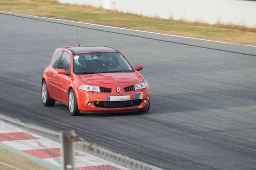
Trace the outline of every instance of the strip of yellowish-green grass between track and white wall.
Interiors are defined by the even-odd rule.
[[[1,0],[0,10],[230,43],[256,45],[256,28],[223,24],[211,26],[198,22],[189,23],[172,19],[164,20],[91,6],[61,4],[56,0]]]

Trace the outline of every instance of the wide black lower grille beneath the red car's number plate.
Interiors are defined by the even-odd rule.
[[[133,107],[141,104],[142,99],[139,100],[131,100],[131,101],[100,101],[99,104],[96,104],[94,101],[94,105],[96,107],[114,109],[114,108],[125,108],[125,107]]]

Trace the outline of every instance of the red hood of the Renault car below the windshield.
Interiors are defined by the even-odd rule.
[[[137,83],[144,81],[138,72],[111,72],[77,75],[84,84]]]

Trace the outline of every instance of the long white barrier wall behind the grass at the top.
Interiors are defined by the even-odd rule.
[[[58,0],[163,19],[256,28],[256,2],[244,0]]]

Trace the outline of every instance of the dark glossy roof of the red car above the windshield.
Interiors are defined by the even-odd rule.
[[[73,53],[73,55],[82,52],[119,52],[118,50],[108,46],[63,46],[59,48],[69,49]]]

